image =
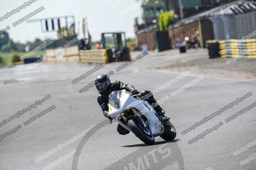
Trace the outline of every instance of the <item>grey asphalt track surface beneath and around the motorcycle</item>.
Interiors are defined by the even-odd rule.
[[[205,53],[205,51],[202,51]],[[55,160],[69,154],[67,158],[52,169],[252,169],[255,170],[256,159],[240,165],[240,162],[256,152],[256,145],[246,151],[233,155],[233,152],[256,140],[256,107],[226,123],[225,119],[255,102],[255,82],[234,81],[204,77],[198,83],[172,97],[171,92],[187,84],[199,75],[180,79],[154,96],[160,100],[168,95],[169,100],[161,106],[177,130],[174,141],[166,142],[156,138],[156,144],[147,146],[132,133],[122,136],[116,131],[117,123],[109,121],[102,115],[96,101],[95,87],[79,93],[78,90],[91,83],[99,74],[109,73],[111,80],[121,80],[134,85],[139,91],[154,90],[179,73],[168,71],[145,70],[143,66],[166,63],[183,57],[200,54],[193,51],[188,54],[159,56],[147,55],[121,71],[115,68],[122,63],[112,63],[82,79],[76,84],[71,81],[94,66],[89,64],[55,63],[38,65],[28,70],[25,65],[0,69],[0,117],[1,121],[11,117],[23,108],[33,104],[47,95],[51,98],[31,111],[20,115],[0,127],[0,135],[21,125],[16,133],[5,137],[0,142],[0,169],[43,169]],[[234,107],[212,118],[195,130],[185,135],[181,131],[204,119],[219,108],[228,105],[248,92],[252,96]],[[55,105],[55,109],[34,122],[23,122]],[[217,130],[188,144],[206,129],[223,122]],[[0,122],[1,123],[1,122]],[[61,148],[49,157],[36,163],[34,160],[58,147],[73,136],[92,127],[88,133],[76,141]],[[73,152],[72,154],[70,154]]]

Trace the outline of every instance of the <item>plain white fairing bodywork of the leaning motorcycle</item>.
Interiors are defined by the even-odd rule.
[[[146,107],[146,106],[148,107]],[[137,100],[131,95],[125,93],[125,90],[122,90],[120,97],[120,108],[116,108],[111,106],[109,102],[109,110],[108,115],[115,119],[120,125],[122,125],[125,129],[131,131],[131,129],[119,120],[120,115],[128,108],[134,107],[147,118],[148,121],[145,123],[149,126],[149,130],[156,137],[162,135],[164,133],[164,128],[162,122],[156,117],[156,111],[149,105],[147,101]],[[149,108],[149,109],[148,109]]]

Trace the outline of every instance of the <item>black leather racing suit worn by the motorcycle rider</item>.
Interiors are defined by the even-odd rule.
[[[134,88],[133,85],[129,85],[129,84],[124,84],[123,82],[121,81],[113,81],[109,87],[108,87],[108,92],[106,95],[100,95],[98,96],[97,98],[97,101],[102,109],[102,112],[104,114],[104,112],[106,113],[106,111],[108,112],[108,95],[111,93],[111,92],[114,92],[114,91],[119,91],[119,90],[126,90],[128,92],[131,92],[130,90]],[[143,95],[146,95],[148,94],[150,91],[143,91],[141,92]],[[156,102],[156,99],[154,99],[153,97],[153,94],[152,96],[150,96],[149,98],[147,98],[147,101],[149,104],[152,104],[152,103],[157,103]],[[156,107],[154,107],[154,109],[156,110],[156,113],[158,113],[159,111],[162,110],[162,108],[157,104]],[[121,135],[125,135],[125,134],[128,134],[130,131],[125,129],[123,126],[121,126],[120,124],[117,125],[117,131],[119,134]]]

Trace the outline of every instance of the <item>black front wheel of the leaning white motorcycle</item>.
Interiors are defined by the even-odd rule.
[[[152,145],[155,143],[154,135],[148,128],[142,127],[136,119],[129,119],[127,121],[127,125],[132,130],[132,133],[134,133],[136,137],[138,137],[145,144]]]

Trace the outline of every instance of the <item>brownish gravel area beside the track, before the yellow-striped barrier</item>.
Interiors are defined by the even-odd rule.
[[[202,53],[198,51],[198,55],[196,55],[195,51],[191,51],[190,53],[189,50],[187,55],[191,56],[169,63],[158,64],[154,66],[154,69],[183,72],[197,65],[198,69],[194,71],[193,74],[216,78],[256,81],[256,58],[240,58],[234,63],[226,64],[229,58],[210,59],[208,54],[204,53],[204,55],[202,55]]]

